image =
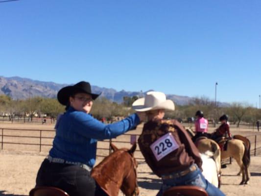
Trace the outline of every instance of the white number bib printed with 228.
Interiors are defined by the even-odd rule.
[[[163,157],[165,157],[170,152],[173,152],[178,147],[179,145],[171,133],[165,134],[150,145],[150,149],[152,150],[157,161],[161,160]]]

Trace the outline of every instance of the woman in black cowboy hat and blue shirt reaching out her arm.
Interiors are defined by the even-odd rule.
[[[58,92],[58,101],[66,105],[66,112],[56,123],[53,146],[38,171],[36,187],[58,187],[70,196],[95,195],[90,172],[95,165],[97,140],[124,134],[145,118],[144,113],[136,113],[117,123],[101,123],[89,114],[98,96],[85,81]]]

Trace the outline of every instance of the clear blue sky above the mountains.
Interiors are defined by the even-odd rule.
[[[261,1],[2,2],[0,75],[256,107]]]

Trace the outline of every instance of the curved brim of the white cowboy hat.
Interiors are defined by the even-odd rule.
[[[175,105],[173,101],[170,99],[167,99],[166,101],[161,102],[154,107],[145,107],[144,102],[145,102],[145,98],[139,98],[133,102],[132,108],[137,112],[146,112],[149,110],[156,110],[156,109],[175,110]]]

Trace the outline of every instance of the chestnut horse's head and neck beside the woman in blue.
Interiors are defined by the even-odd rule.
[[[134,158],[136,143],[130,149],[110,145],[114,152],[92,170],[92,177],[108,196],[118,196],[119,190],[126,196],[139,195],[138,164]]]

